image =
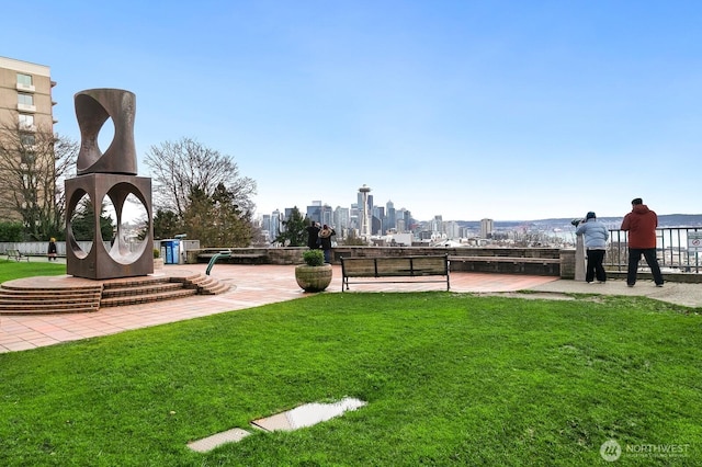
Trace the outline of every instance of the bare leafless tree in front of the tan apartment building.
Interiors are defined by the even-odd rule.
[[[72,175],[79,149],[45,128],[0,125],[0,212],[21,220],[33,240],[64,232],[64,180]]]

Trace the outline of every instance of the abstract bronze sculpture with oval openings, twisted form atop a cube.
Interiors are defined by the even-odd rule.
[[[81,144],[77,161],[78,176],[66,180],[66,265],[68,274],[94,280],[133,277],[154,272],[154,226],[151,179],[136,176],[134,145],[134,93],[120,89],[91,89],[75,95],[76,117]],[[112,119],[114,138],[101,152],[98,135]],[[127,197],[133,195],[146,209],[145,239],[131,244],[122,232]],[[112,244],[101,235],[100,217],[109,200],[115,208],[117,231]],[[87,203],[86,203],[87,202]],[[81,209],[92,209],[86,215]],[[77,213],[93,223],[91,247],[84,251],[73,235],[71,219]],[[110,239],[109,239],[110,240]]]

